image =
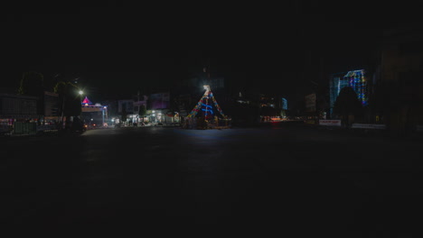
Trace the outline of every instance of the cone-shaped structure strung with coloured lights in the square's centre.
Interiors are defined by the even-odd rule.
[[[202,98],[200,101],[198,101],[197,105],[194,106],[193,110],[190,114],[188,114],[186,117],[195,117],[195,115],[198,114],[198,112],[202,112],[204,115],[204,119],[206,121],[209,121],[210,119],[214,118],[214,116],[217,116],[217,112],[221,114],[223,118],[226,118],[227,116],[223,114],[221,111],[221,106],[217,103],[216,99],[213,96],[213,93],[211,92],[209,85],[204,85],[205,92],[202,95]],[[211,102],[209,102],[211,100]],[[217,110],[217,112],[215,112]]]

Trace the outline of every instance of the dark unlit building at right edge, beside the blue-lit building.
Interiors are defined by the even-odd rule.
[[[391,132],[423,126],[423,27],[397,25],[383,32],[375,54],[369,121]]]

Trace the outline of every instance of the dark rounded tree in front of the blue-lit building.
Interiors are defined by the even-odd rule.
[[[358,99],[353,87],[343,87],[334,102],[334,114],[342,117],[342,122],[346,127],[353,123],[356,115],[362,113],[362,102]]]

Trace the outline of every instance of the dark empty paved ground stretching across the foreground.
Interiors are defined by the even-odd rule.
[[[422,221],[421,142],[282,124],[3,144],[0,218],[9,227],[411,237]]]

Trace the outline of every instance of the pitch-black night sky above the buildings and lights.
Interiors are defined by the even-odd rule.
[[[211,59],[225,78],[299,94],[307,82],[297,72],[307,57],[324,57],[331,70],[360,65],[381,29],[413,21],[390,11],[411,8],[364,1],[16,4],[5,8],[1,22],[2,82],[14,85],[23,71],[37,70],[83,78],[92,91],[133,93],[143,85],[171,85]]]

